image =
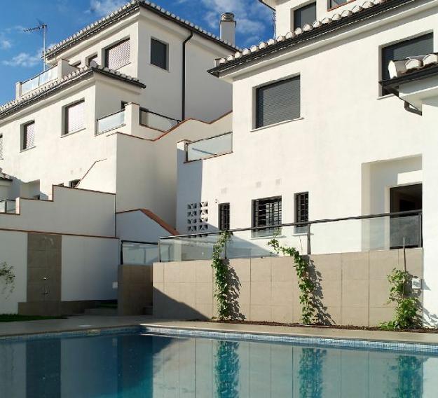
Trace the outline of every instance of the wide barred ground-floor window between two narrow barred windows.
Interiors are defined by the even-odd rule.
[[[267,227],[281,224],[281,196],[252,201],[252,226]],[[273,235],[273,228],[253,231],[253,236]]]

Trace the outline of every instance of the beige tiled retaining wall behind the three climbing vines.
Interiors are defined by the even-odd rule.
[[[334,324],[374,326],[390,320],[388,274],[402,268],[402,250],[320,254],[310,257],[319,281],[321,311]],[[153,265],[153,315],[205,319],[216,315],[211,261]],[[299,322],[301,306],[290,257],[234,259],[238,310],[245,320]],[[406,250],[406,268],[423,277],[423,250]]]

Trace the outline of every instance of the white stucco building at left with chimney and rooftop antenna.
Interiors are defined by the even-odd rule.
[[[207,72],[237,49],[233,15],[219,23],[223,39],[133,0],[49,48],[48,69],[16,84],[15,99],[0,106],[0,231],[12,237],[0,240],[0,263],[14,267],[18,282],[13,299],[0,299],[0,313],[49,296],[115,299],[118,241],[176,233],[176,143],[214,135],[231,117],[231,84]],[[90,254],[69,238],[34,244],[29,233],[97,243]],[[69,275],[80,266],[76,276],[32,287],[46,272],[29,268],[35,245],[62,248],[56,267]],[[94,282],[82,289],[81,278]],[[41,300],[32,289],[42,289]]]

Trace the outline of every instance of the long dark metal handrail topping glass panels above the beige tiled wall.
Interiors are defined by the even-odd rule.
[[[308,226],[308,225],[312,225],[312,224],[323,224],[323,223],[336,222],[336,221],[377,219],[377,218],[381,218],[381,217],[397,217],[397,216],[414,216],[414,215],[420,216],[422,214],[423,214],[423,212],[421,210],[409,210],[408,212],[368,214],[366,216],[341,217],[338,219],[320,219],[320,220],[314,220],[314,221],[278,224],[278,225],[273,225],[273,226],[253,226],[253,227],[247,227],[247,228],[235,228],[235,229],[228,230],[228,232],[233,233],[233,232],[242,232],[242,231],[263,231],[265,229],[275,229],[275,228],[282,228],[282,227],[287,227],[287,226]],[[169,240],[169,239],[174,239],[174,238],[191,238],[191,237],[200,236],[200,235],[202,235],[202,236],[218,235],[219,233],[221,233],[221,231],[188,233],[185,235],[163,236],[162,238],[160,238],[160,240]]]

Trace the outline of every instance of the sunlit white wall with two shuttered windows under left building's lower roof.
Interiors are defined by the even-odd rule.
[[[118,111],[122,100],[137,101],[139,90],[95,75],[0,121],[4,136],[4,159],[0,160],[0,167],[14,178],[10,198],[31,196],[23,187],[31,181],[39,181],[41,198],[48,198],[53,184],[68,186],[69,181],[82,179],[96,161],[102,160],[105,160],[105,174],[95,184],[81,188],[115,193],[116,139],[96,136],[96,121]],[[85,128],[62,135],[64,107],[81,99],[85,100]],[[29,121],[35,121],[35,146],[21,151],[21,126]]]

